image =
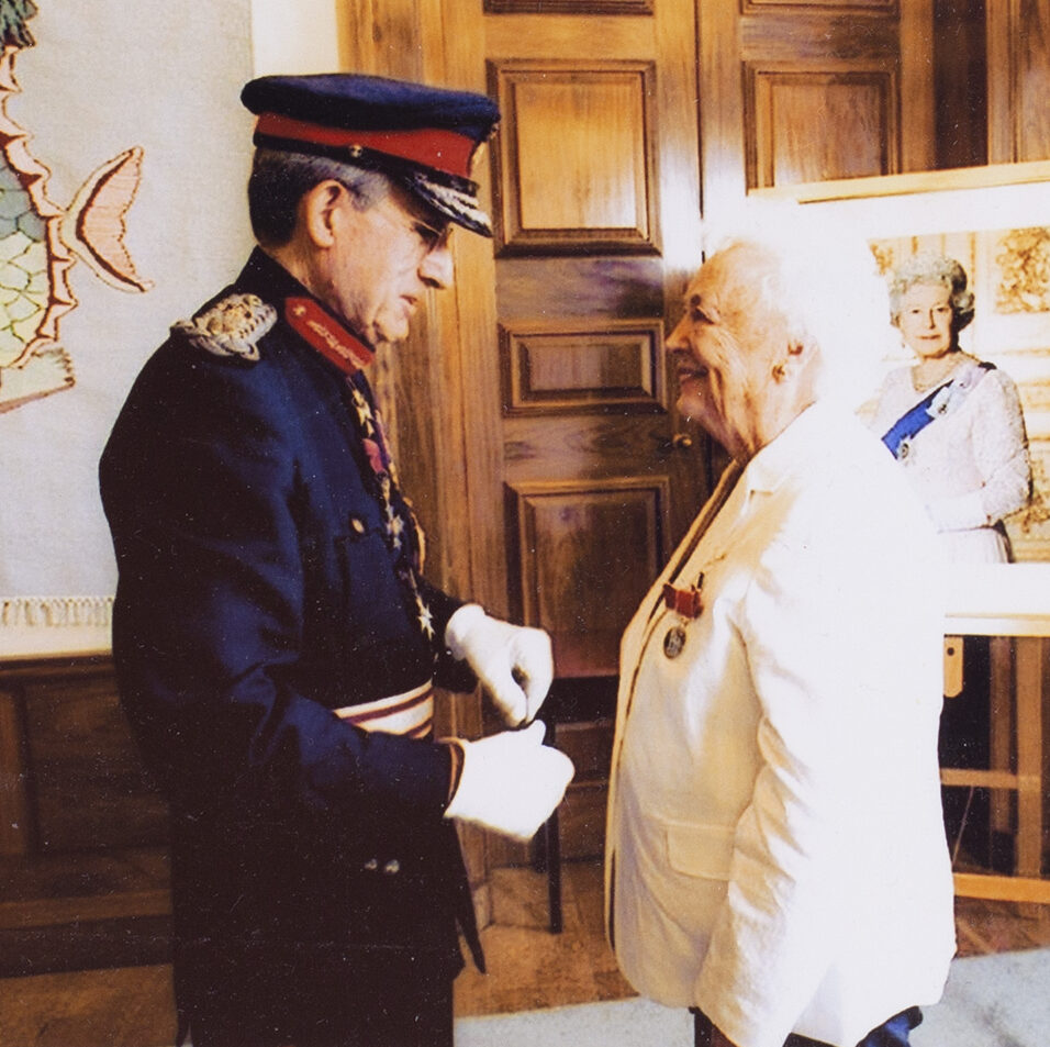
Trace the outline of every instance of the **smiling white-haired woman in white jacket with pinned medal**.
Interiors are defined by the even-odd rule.
[[[905,1045],[954,950],[936,535],[830,396],[857,285],[814,235],[689,286],[679,409],[733,463],[622,645],[610,939],[715,1047]]]

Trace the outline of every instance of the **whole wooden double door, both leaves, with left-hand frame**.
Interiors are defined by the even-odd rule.
[[[501,105],[476,172],[495,241],[456,237],[455,290],[377,383],[428,573],[554,636],[570,855],[601,848],[619,633],[722,460],[677,415],[662,353],[702,202],[928,166],[931,5],[342,0],[347,68]]]

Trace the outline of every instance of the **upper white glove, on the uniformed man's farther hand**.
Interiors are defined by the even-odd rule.
[[[461,606],[445,627],[453,657],[473,669],[505,723],[536,719],[555,676],[550,637],[541,628],[490,617],[477,603]]]

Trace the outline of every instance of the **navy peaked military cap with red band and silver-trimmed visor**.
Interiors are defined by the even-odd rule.
[[[265,76],[245,85],[255,144],[384,171],[458,225],[492,235],[470,165],[500,110],[490,98],[358,74]]]

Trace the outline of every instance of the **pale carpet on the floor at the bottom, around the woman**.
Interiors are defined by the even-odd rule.
[[[1050,949],[958,959],[948,988],[912,1034],[914,1047],[1047,1047]],[[617,1000],[460,1018],[456,1047],[691,1047],[684,1010]]]

